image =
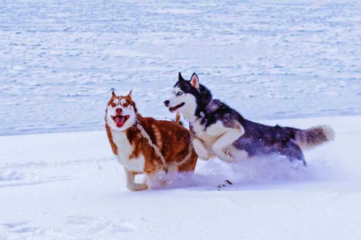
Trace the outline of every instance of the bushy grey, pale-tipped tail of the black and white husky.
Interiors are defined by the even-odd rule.
[[[335,139],[335,131],[328,125],[315,126],[305,130],[294,130],[294,140],[302,150],[315,148]]]

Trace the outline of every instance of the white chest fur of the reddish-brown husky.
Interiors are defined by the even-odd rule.
[[[145,164],[143,155],[139,155],[138,158],[129,159],[134,147],[129,143],[126,133],[124,131],[112,130],[112,137],[118,148],[118,154],[116,155],[118,162],[130,171],[143,172]]]

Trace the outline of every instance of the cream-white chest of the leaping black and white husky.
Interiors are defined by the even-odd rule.
[[[225,132],[224,125],[221,121],[218,121],[215,124],[207,127],[207,129],[204,129],[204,125],[201,124],[201,121],[197,120],[196,122],[192,123],[192,127],[196,137],[201,139],[205,146],[209,149],[212,149],[213,144]]]

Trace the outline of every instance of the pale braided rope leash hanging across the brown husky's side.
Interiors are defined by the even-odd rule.
[[[190,144],[189,144],[189,149],[188,149],[188,154],[187,154],[187,156],[185,156],[185,158],[184,158],[182,161],[180,161],[180,162],[175,162],[175,163],[172,163],[172,164],[168,165],[168,164],[165,162],[165,159],[164,159],[163,155],[161,154],[159,148],[157,147],[157,145],[155,145],[155,144],[152,142],[152,140],[150,139],[149,134],[148,134],[148,133],[145,131],[145,129],[140,125],[138,119],[136,119],[136,127],[137,127],[137,129],[140,130],[141,135],[148,140],[148,144],[149,144],[152,148],[154,148],[154,150],[156,151],[157,155],[160,157],[160,160],[161,160],[161,162],[162,162],[162,164],[163,164],[163,171],[165,172],[165,174],[168,173],[168,171],[169,171],[169,166],[180,166],[180,165],[184,164],[185,162],[187,162],[188,159],[192,156],[192,150],[193,150],[193,143],[192,143],[192,142],[193,142],[193,135],[192,135],[191,133],[190,133],[191,142],[190,142]]]

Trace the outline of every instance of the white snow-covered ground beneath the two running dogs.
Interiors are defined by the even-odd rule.
[[[105,130],[0,137],[0,240],[361,237],[361,116],[262,121],[329,124],[336,141],[280,159],[199,162],[168,189],[131,192]],[[224,180],[234,185],[217,188]]]

